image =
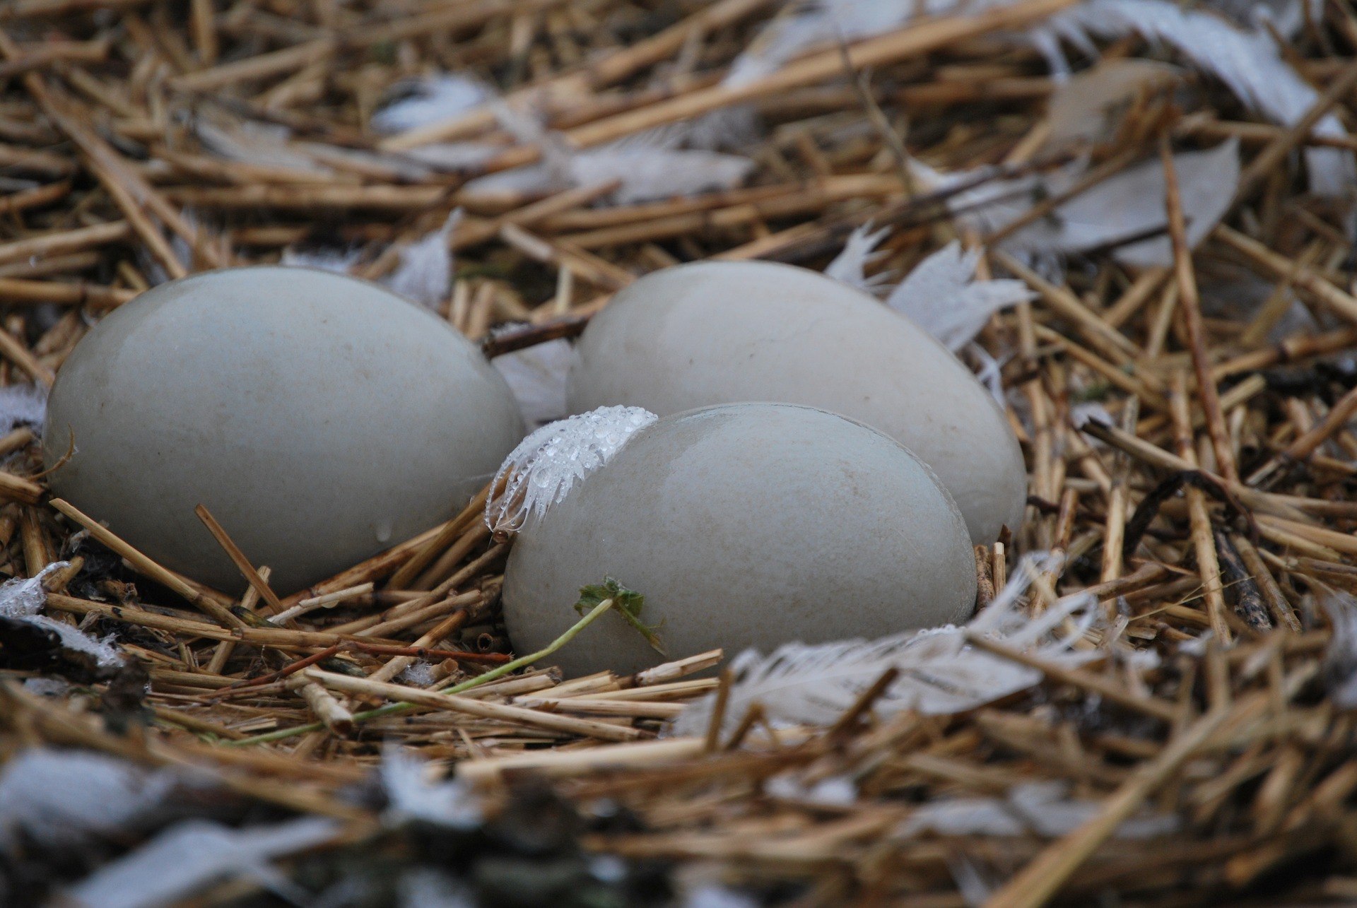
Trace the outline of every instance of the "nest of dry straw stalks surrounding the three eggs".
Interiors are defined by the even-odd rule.
[[[1120,8],[1098,1],[1098,15]],[[1274,26],[1273,62],[1314,88],[1281,125],[1224,68],[1129,27],[1092,30],[1098,67],[1187,65],[1114,105],[1064,91],[1041,42],[1015,39],[1065,15],[1058,0],[917,4],[940,15],[904,12],[786,58],[769,23],[817,14],[773,5],[9,0],[0,381],[50,385],[95,319],[156,282],[284,255],[338,257],[375,280],[404,267],[406,293],[505,354],[578,334],[611,293],[680,261],[822,269],[873,225],[879,255],[851,265],[898,277],[959,239],[984,250],[981,278],[1034,295],[963,352],[977,366],[999,357],[1030,467],[1026,525],[977,548],[981,604],[1023,552],[1053,552],[1060,567],[1020,605],[1035,618],[1091,599],[1101,622],[1077,645],[1095,657],[1053,662],[976,637],[1035,683],[934,714],[879,708],[886,672],[833,721],[791,726],[730,707],[738,680],[712,676],[721,653],[562,679],[550,654],[513,654],[498,623],[512,540],[480,520],[489,489],[285,599],[204,512],[250,580],[233,600],[50,499],[24,425],[33,395],[7,387],[0,558],[37,578],[23,589],[47,623],[0,624],[0,779],[42,745],[109,757],[66,780],[81,806],[61,822],[84,827],[79,848],[12,831],[0,892],[14,904],[145,856],[185,817],[256,844],[259,824],[274,839],[285,828],[292,847],[261,852],[281,862],[273,890],[327,904],[436,904],[438,886],[486,904],[1357,898],[1357,299],[1350,198],[1318,186],[1357,149],[1342,130],[1357,84],[1349,4],[1300,4],[1289,41]],[[1178,15],[1234,12],[1213,5]],[[727,77],[750,49],[757,65]],[[476,73],[539,119],[482,98],[373,129],[404,95],[475,88],[440,88],[437,73]],[[689,159],[697,185],[581,163],[581,149],[641,133],[664,145],[666,128],[696,121],[725,130],[684,133],[707,155]],[[1181,155],[1223,140],[1242,166],[1208,213],[1194,194],[1206,178],[1179,179]],[[430,145],[445,157],[421,153]],[[536,183],[486,179],[536,162]],[[966,178],[930,185],[917,163]],[[1147,164],[1164,223],[1075,243],[1067,206]],[[1015,200],[1016,214],[987,220]],[[430,236],[456,252],[448,278],[438,257],[408,271]],[[1148,240],[1167,243],[1162,263],[1121,254]],[[612,604],[607,589],[593,601]],[[699,699],[703,732],[661,734]],[[402,775],[411,757],[456,782]],[[102,828],[110,765],[142,786],[172,776],[182,797]],[[470,818],[453,809],[471,803]],[[297,817],[334,824],[278,825]],[[256,878],[220,875],[170,896],[271,904]],[[370,901],[335,894],[356,879]]]

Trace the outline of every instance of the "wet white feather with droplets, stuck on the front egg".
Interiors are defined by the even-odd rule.
[[[641,407],[598,407],[537,429],[509,452],[495,474],[491,489],[505,476],[509,483],[499,498],[486,502],[486,527],[495,533],[522,529],[655,419]]]

